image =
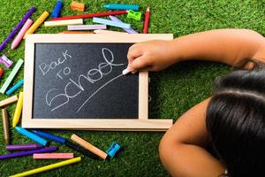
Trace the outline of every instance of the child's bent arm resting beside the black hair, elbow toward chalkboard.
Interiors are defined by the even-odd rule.
[[[217,177],[224,173],[225,167],[204,149],[208,144],[205,123],[208,101],[193,106],[163,135],[160,158],[172,176]]]

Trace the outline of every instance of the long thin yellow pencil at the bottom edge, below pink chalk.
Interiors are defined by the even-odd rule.
[[[10,177],[22,177],[22,176],[32,175],[32,174],[35,174],[35,173],[42,173],[42,172],[45,172],[45,171],[48,171],[48,170],[52,170],[52,169],[55,169],[55,168],[58,168],[58,167],[61,167],[61,166],[64,166],[64,165],[71,165],[71,164],[77,163],[79,161],[81,161],[81,157],[72,158],[72,159],[69,159],[69,160],[64,160],[62,162],[58,162],[56,164],[45,165],[45,166],[42,166],[40,168],[36,168],[34,170],[29,170],[27,172],[17,173],[17,174],[11,175]]]

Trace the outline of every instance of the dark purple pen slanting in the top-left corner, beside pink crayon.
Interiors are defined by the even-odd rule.
[[[4,50],[4,47],[6,46],[6,44],[9,41],[11,41],[11,39],[16,35],[16,33],[19,31],[19,29],[23,26],[25,21],[35,12],[35,10],[36,9],[34,7],[30,8],[30,10],[28,10],[26,15],[19,21],[19,24],[12,30],[11,34],[7,36],[7,38],[4,40],[4,42],[2,42],[2,44],[0,45],[0,51]]]

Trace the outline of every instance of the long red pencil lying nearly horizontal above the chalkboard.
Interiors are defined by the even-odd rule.
[[[51,20],[55,21],[55,20],[64,20],[64,19],[87,19],[87,18],[103,17],[103,16],[109,16],[109,15],[119,15],[119,14],[125,14],[125,13],[127,13],[127,11],[99,12],[99,13],[59,17],[59,18],[55,18]]]

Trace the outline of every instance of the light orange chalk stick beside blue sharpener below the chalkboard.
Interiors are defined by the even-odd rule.
[[[97,156],[99,156],[100,158],[106,159],[108,157],[108,154],[102,150],[99,150],[98,148],[96,148],[94,145],[92,145],[89,142],[86,142],[85,140],[83,140],[82,138],[80,138],[78,135],[72,135],[71,136],[71,140],[74,142],[79,143],[79,145],[81,145],[82,147],[84,147],[85,149],[92,151],[93,153],[95,153]]]

